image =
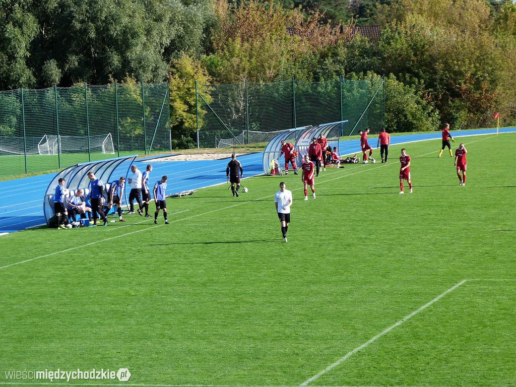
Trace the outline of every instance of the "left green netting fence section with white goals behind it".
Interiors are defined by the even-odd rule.
[[[166,150],[167,83],[0,91],[0,177]]]

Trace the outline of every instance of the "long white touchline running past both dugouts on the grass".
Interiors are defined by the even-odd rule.
[[[492,136],[492,137],[496,137],[496,136]],[[491,137],[486,137],[486,138],[491,138]],[[483,140],[485,138],[482,138],[481,140]],[[476,141],[480,141],[480,140],[476,140]],[[475,141],[471,141],[471,142],[475,142]],[[470,142],[470,143],[471,143]],[[436,153],[437,151],[432,151],[432,152],[429,152],[429,153],[426,153],[426,154],[423,154],[421,156],[426,156],[426,155],[429,155],[431,153]],[[420,156],[420,157],[421,157]],[[382,167],[386,167],[386,166],[390,166],[390,165],[395,165],[394,163],[391,163],[391,164],[382,164],[382,165],[379,165],[378,167],[374,167],[374,168],[364,168],[362,169],[361,171],[358,171],[358,172],[354,172],[354,173],[348,173],[348,174],[344,174],[342,176],[338,176],[336,178],[333,178],[333,179],[329,179],[329,180],[325,180],[325,181],[322,181],[318,184],[323,184],[323,183],[327,183],[327,182],[331,182],[331,181],[334,181],[334,180],[338,180],[338,179],[342,179],[342,178],[346,178],[347,176],[352,176],[352,175],[355,175],[355,174],[358,174],[358,173],[362,173],[362,172],[366,172],[366,171],[371,171],[371,170],[374,170],[374,169],[377,169],[377,168],[382,168]],[[354,169],[354,168],[353,168]],[[224,184],[224,183],[220,183],[220,184]],[[299,188],[295,188],[293,189],[294,190],[300,190],[300,189],[303,189],[303,187],[299,187]],[[218,212],[218,211],[222,211],[223,209],[228,209],[228,208],[232,208],[232,207],[236,207],[236,206],[239,206],[239,205],[243,205],[243,204],[247,204],[247,203],[252,203],[252,202],[256,202],[256,201],[260,201],[260,200],[263,200],[263,199],[267,199],[267,198],[272,198],[274,197],[274,195],[267,195],[267,196],[264,196],[264,197],[261,197],[261,198],[258,198],[258,199],[253,199],[253,200],[248,200],[248,201],[245,201],[245,202],[239,202],[239,203],[236,203],[236,204],[233,204],[233,205],[230,205],[230,206],[226,206],[226,207],[222,207],[222,208],[217,208],[217,209],[212,209],[212,211],[207,211],[205,213],[201,213],[201,214],[197,214],[197,215],[191,215],[191,216],[187,216],[186,218],[181,218],[181,219],[176,219],[176,220],[172,220],[172,221],[169,221],[169,223],[176,223],[176,222],[179,222],[179,221],[182,221],[182,220],[187,220],[187,219],[191,219],[191,218],[196,218],[196,217],[199,217],[199,216],[203,216],[203,215],[207,215],[207,214],[211,214],[211,213],[214,213],[214,212]],[[141,221],[140,223],[144,222],[145,220]],[[134,224],[134,223],[133,223]],[[102,243],[102,242],[105,242],[105,241],[108,241],[108,240],[111,240],[111,239],[116,239],[116,238],[121,238],[123,236],[127,236],[127,235],[132,235],[132,234],[136,234],[136,233],[140,233],[140,232],[143,232],[143,231],[147,231],[147,230],[151,230],[151,229],[154,229],[156,227],[161,227],[163,226],[164,224],[152,224],[150,225],[150,227],[148,228],[145,228],[145,229],[141,229],[141,230],[136,230],[136,231],[132,231],[132,232],[128,232],[128,233],[125,233],[125,234],[120,234],[120,235],[116,235],[116,236],[112,236],[110,238],[105,238],[105,239],[101,239],[101,240],[96,240],[96,241],[93,241],[93,242],[90,242],[90,243],[87,243],[85,245],[80,245],[80,246],[75,246],[75,247],[71,247],[69,249],[65,249],[65,250],[60,250],[60,251],[54,251],[52,253],[49,253],[49,254],[45,254],[45,255],[40,255],[40,256],[36,256],[34,258],[30,258],[28,260],[24,260],[24,261],[20,261],[20,262],[15,262],[15,263],[11,263],[9,265],[5,265],[5,266],[0,266],[0,270],[2,269],[5,269],[5,268],[8,268],[8,267],[11,267],[11,266],[15,266],[15,265],[21,265],[23,263],[26,263],[26,262],[31,262],[31,261],[35,261],[35,260],[38,260],[40,258],[45,258],[47,256],[52,256],[52,255],[56,255],[56,254],[61,254],[61,253],[65,253],[65,252],[68,252],[68,251],[72,251],[72,250],[76,250],[76,249],[82,249],[83,247],[87,247],[87,246],[91,246],[91,245],[95,245],[95,244],[98,244],[98,243]],[[122,226],[122,227],[125,227],[125,226]]]

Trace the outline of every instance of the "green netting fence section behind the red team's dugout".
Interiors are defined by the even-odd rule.
[[[198,146],[269,141],[284,130],[348,120],[343,135],[384,127],[383,78],[198,85]],[[199,91],[202,90],[202,91]]]

